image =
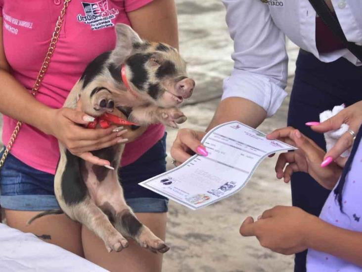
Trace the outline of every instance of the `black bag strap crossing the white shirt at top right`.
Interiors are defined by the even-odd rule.
[[[324,24],[341,40],[343,45],[362,62],[362,46],[347,41],[338,19],[333,15],[324,0],[309,0]]]

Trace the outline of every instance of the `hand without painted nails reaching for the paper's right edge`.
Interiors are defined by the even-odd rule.
[[[337,183],[342,168],[336,163],[321,167],[325,155],[324,150],[293,127],[276,129],[267,135],[268,139],[277,139],[286,142],[298,149],[293,152],[282,153],[275,164],[276,177],[284,178],[289,182],[293,172],[309,173],[324,188],[331,190]],[[286,165],[286,167],[285,167]],[[284,168],[285,167],[285,168]]]

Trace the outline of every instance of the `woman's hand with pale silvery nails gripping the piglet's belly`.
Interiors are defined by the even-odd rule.
[[[122,127],[110,126],[102,129],[88,129],[86,125],[94,118],[82,111],[69,108],[51,109],[46,133],[56,137],[73,154],[97,165],[108,165],[107,160],[93,156],[90,151],[127,142],[122,135],[127,131]]]

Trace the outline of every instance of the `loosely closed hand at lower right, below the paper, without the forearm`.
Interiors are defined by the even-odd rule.
[[[248,217],[240,226],[242,236],[256,236],[260,245],[290,255],[308,248],[308,235],[318,218],[297,207],[276,206],[257,221]]]

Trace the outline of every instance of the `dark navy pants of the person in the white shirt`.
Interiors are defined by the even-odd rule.
[[[362,66],[355,66],[345,58],[325,63],[314,55],[300,51],[293,90],[289,103],[288,126],[298,128],[325,150],[322,134],[305,125],[319,121],[319,113],[336,105],[350,106],[362,100]],[[293,206],[319,216],[329,191],[307,173],[292,175]],[[306,271],[307,250],[296,254],[295,272]]]

